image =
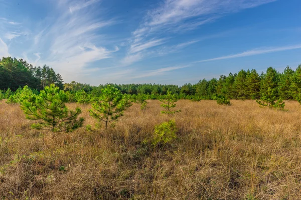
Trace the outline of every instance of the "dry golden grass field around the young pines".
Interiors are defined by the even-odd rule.
[[[18,105],[0,104],[2,199],[301,199],[301,105],[179,100],[178,139],[146,149],[167,119],[157,100],[133,104],[105,130],[80,105],[71,133],[31,129]],[[68,104],[74,108],[77,104]]]

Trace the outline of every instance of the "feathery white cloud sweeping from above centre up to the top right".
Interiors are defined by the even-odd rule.
[[[159,48],[154,51],[159,54],[176,52],[197,40],[160,47],[163,43],[168,42],[164,36],[165,32],[176,34],[193,30],[226,14],[272,1],[275,0],[164,0],[158,7],[145,12],[139,27],[132,32],[128,53],[124,59],[137,58],[131,59],[132,62],[128,62],[129,64],[139,61],[145,57],[144,50],[151,47]],[[134,54],[137,51],[140,53]]]

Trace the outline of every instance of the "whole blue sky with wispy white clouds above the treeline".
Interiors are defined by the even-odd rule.
[[[0,57],[72,80],[182,85],[301,63],[300,0],[0,0]]]

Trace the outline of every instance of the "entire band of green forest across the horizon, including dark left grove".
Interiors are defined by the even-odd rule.
[[[91,86],[86,83],[72,81],[63,84],[63,79],[53,68],[44,65],[36,67],[23,59],[3,57],[0,59],[0,89],[12,91],[28,85],[33,89],[43,89],[51,83],[67,91],[70,101],[77,101],[76,96],[99,96],[101,89],[107,84]],[[112,83],[111,83],[112,84]],[[202,79],[195,84],[186,83],[182,86],[172,84],[114,84],[124,94],[145,94],[156,99],[166,94],[168,89],[184,99],[215,99],[225,96],[231,99],[258,99],[263,93],[271,92],[281,99],[297,99],[301,89],[301,64],[295,70],[287,66],[283,72],[268,67],[266,72],[259,74],[255,69],[221,75],[218,79]],[[90,97],[89,97],[90,96]]]

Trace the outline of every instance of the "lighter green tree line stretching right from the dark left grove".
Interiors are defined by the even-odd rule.
[[[241,69],[237,73],[221,75],[218,79],[202,79],[195,84],[186,83],[182,86],[173,84],[113,84],[123,94],[147,95],[150,99],[158,99],[160,95],[171,90],[178,98],[183,99],[216,99],[220,96],[230,99],[259,99],[263,94],[270,93],[275,98],[298,99],[301,91],[301,64],[295,70],[287,66],[283,72],[268,67],[266,72],[259,74],[255,69]],[[65,83],[64,89],[70,93],[86,92],[87,95],[100,95],[107,84],[91,86],[72,81]]]

